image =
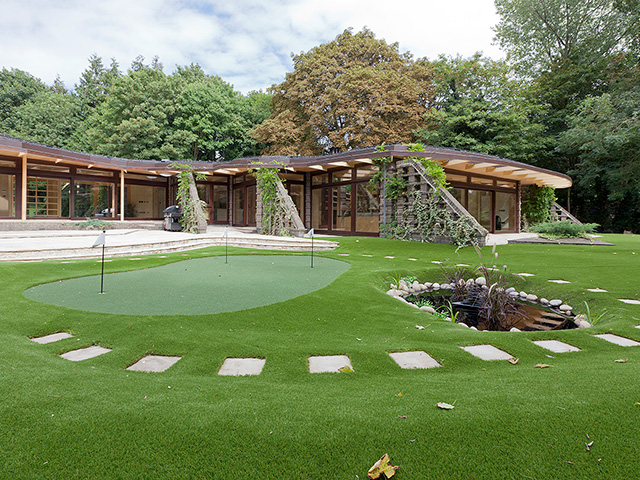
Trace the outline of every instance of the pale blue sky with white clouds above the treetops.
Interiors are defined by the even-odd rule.
[[[415,58],[469,57],[492,45],[493,0],[0,0],[0,68],[73,89],[92,54],[126,71],[158,56],[167,74],[200,64],[240,92],[293,70],[292,53],[367,27]]]

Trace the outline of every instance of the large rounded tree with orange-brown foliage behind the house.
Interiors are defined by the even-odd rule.
[[[318,154],[413,140],[432,100],[431,68],[377,40],[345,30],[293,55],[294,71],[273,86],[271,117],[253,135],[269,153]]]

